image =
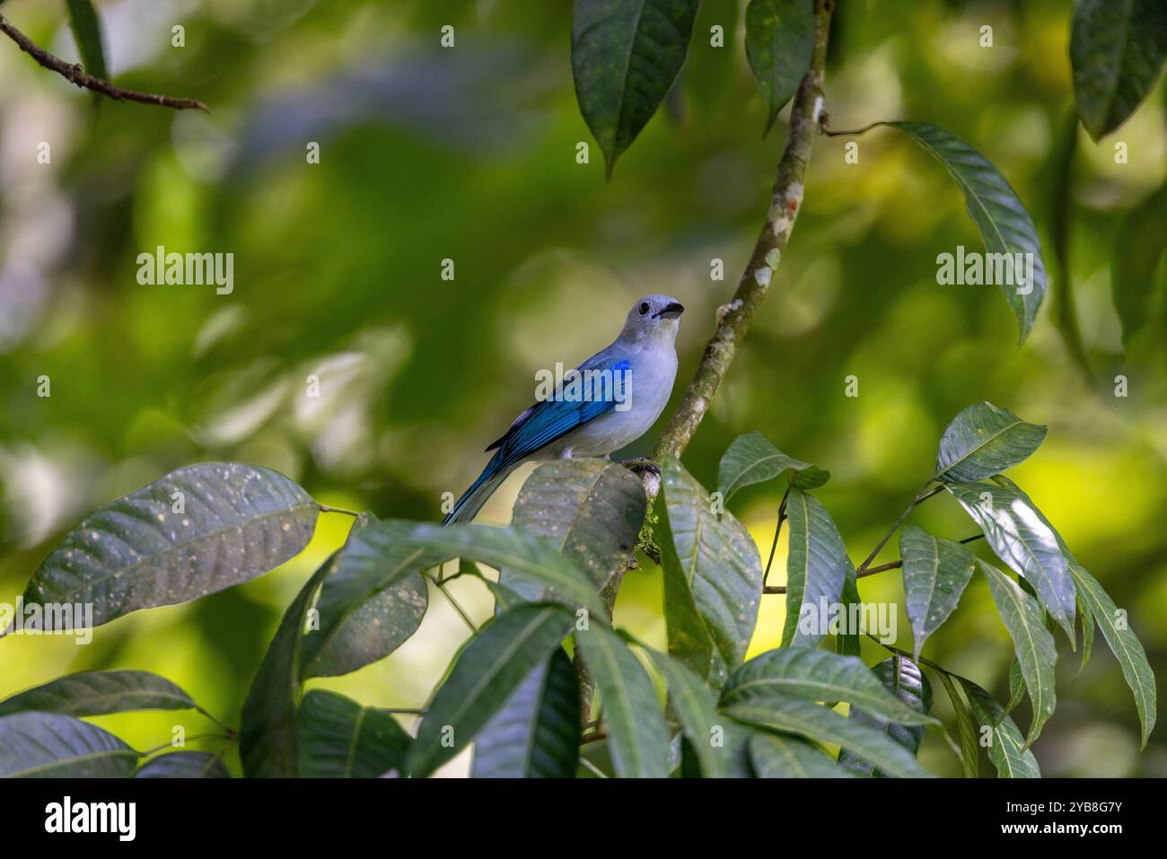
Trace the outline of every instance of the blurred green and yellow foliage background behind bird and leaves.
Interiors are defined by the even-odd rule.
[[[530,404],[534,371],[607,344],[648,292],[680,299],[679,397],[729,300],[768,203],[785,135],[769,138],[746,65],[745,1],[705,0],[666,105],[603,180],[575,104],[568,0],[111,0],[99,2],[124,86],[198,98],[175,113],[93,98],[0,41],[0,601],[86,512],[183,465],[243,460],[319,501],[435,521]],[[64,4],[2,13],[75,61]],[[1071,358],[1047,295],[1021,349],[997,287],[938,286],[936,256],[981,250],[959,190],[906,137],[876,130],[815,145],[804,209],[770,294],[693,444],[713,487],[729,441],[760,430],[832,473],[819,490],[858,561],[932,472],[946,422],[987,399],[1049,425],[1011,472],[1060,529],[1146,647],[1167,665],[1167,394],[1152,330],[1123,354],[1110,263],[1124,215],[1163,182],[1163,83],[1118,132],[1083,131],[1071,182],[1067,56],[1071,4],[840,0],[827,104],[836,128],[878,119],[941,125],[993,161],[1026,203],[1055,268],[1069,224],[1072,286],[1090,373]],[[184,27],[186,44],[172,46]],[[441,48],[440,29],[455,29]],[[720,25],[726,47],[710,44]],[[993,47],[980,47],[980,28]],[[591,163],[576,163],[576,144]],[[1116,163],[1113,144],[1128,147]],[[39,163],[39,145],[50,162]],[[319,163],[309,163],[310,144]],[[1159,237],[1160,240],[1162,237]],[[137,256],[235,254],[235,287],[144,286]],[[454,279],[441,278],[453,260]],[[725,280],[711,278],[724,260]],[[1051,293],[1063,288],[1055,282]],[[1114,377],[1128,396],[1114,396]],[[844,396],[845,378],[859,396]],[[37,396],[39,379],[51,396]],[[307,379],[320,380],[309,398]],[[659,428],[659,427],[658,427]],[[626,452],[645,453],[651,438]],[[483,511],[506,522],[524,476]],[[763,558],[777,484],[733,511]],[[974,533],[949,497],[911,519]],[[307,575],[349,528],[321,517],[308,551],[198,602],[139,612],[93,642],[0,644],[0,697],[79,670],[162,673],[219,719],[238,711],[266,643]],[[983,546],[983,544],[981,544]],[[783,579],[784,540],[771,584]],[[984,547],[978,550],[984,552]],[[895,540],[882,560],[897,557]],[[478,619],[482,586],[450,586]],[[896,573],[865,601],[902,603]],[[781,637],[763,600],[754,652]],[[617,622],[664,642],[659,571],[628,575]],[[900,614],[900,643],[910,647]],[[419,707],[467,630],[440,594],[387,659],[314,680],[364,704]],[[1138,748],[1133,700],[1102,637],[1081,676],[1060,638],[1058,707],[1034,752],[1050,776],[1167,775],[1160,728]],[[1011,643],[974,579],[925,656],[1006,700]],[[876,645],[869,663],[885,657]],[[945,696],[936,712],[952,725]],[[1014,713],[1028,725],[1028,704]],[[167,742],[173,713],[97,721],[138,748]],[[214,729],[197,715],[188,734]],[[211,745],[194,743],[194,748]],[[934,736],[925,767],[958,775]],[[229,756],[238,773],[236,753]],[[467,756],[447,768],[464,773]],[[991,771],[983,763],[983,771]]]

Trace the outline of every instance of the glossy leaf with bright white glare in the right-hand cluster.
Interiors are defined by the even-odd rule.
[[[948,483],[946,488],[980,525],[997,557],[1034,586],[1042,606],[1074,642],[1074,580],[1054,529],[1012,486]]]

